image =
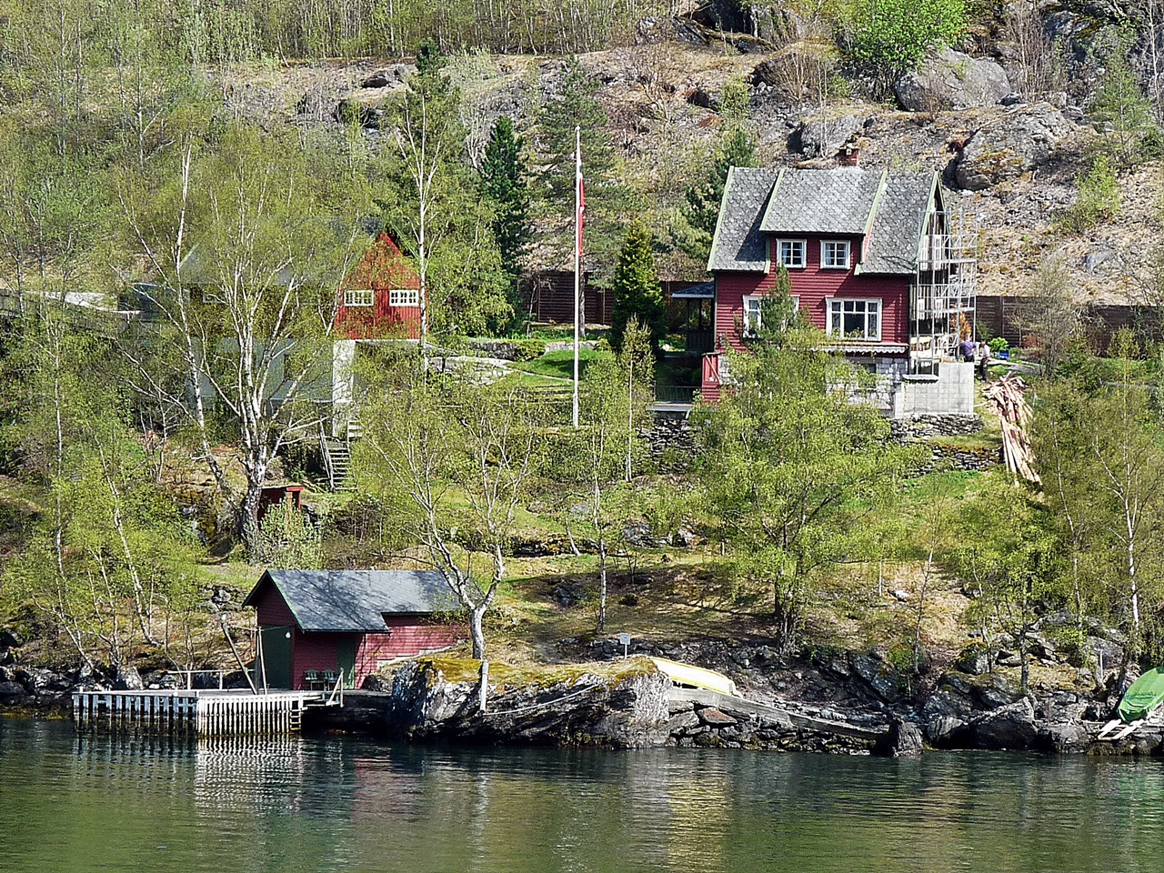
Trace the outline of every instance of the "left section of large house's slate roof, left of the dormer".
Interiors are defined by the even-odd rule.
[[[708,258],[709,271],[767,271],[768,240],[760,230],[760,219],[776,176],[775,170],[746,166],[728,171],[711,257]]]

